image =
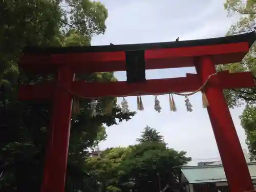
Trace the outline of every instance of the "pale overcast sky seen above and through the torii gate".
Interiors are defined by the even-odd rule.
[[[92,45],[134,44],[225,36],[238,17],[227,17],[223,0],[102,0],[109,10],[104,35],[95,36]],[[161,2],[161,3],[160,3]],[[195,73],[194,68],[147,70],[147,79],[184,77]],[[116,73],[119,80],[126,80],[125,72]],[[127,97],[130,110],[137,109],[136,97]],[[193,157],[193,163],[201,160],[218,160],[219,152],[212,133],[206,109],[202,108],[201,94],[190,96],[193,112],[186,112],[184,97],[175,96],[177,112],[169,111],[168,96],[159,96],[162,112],[154,110],[154,96],[143,96],[145,111],[140,111],[129,122],[106,128],[108,138],[100,148],[127,146],[136,143],[143,128],[157,129],[170,148],[184,150]],[[121,99],[118,99],[120,103]],[[243,148],[245,135],[239,115],[243,108],[231,110],[231,115]]]

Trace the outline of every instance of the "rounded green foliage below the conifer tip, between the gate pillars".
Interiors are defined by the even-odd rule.
[[[86,165],[89,175],[100,183],[94,191],[159,192],[166,186],[172,191],[181,189],[180,167],[191,160],[185,155],[186,152],[167,148],[162,140],[143,141],[126,148],[107,149],[100,157],[89,158]]]

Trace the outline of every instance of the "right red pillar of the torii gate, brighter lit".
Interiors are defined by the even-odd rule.
[[[196,65],[196,69],[202,82],[216,71],[215,65],[209,57],[201,58]],[[239,80],[241,81],[241,79],[238,79],[236,82]],[[223,95],[223,90],[217,87],[206,86],[205,94],[209,102],[207,111],[230,191],[253,190],[250,173],[226,99]]]

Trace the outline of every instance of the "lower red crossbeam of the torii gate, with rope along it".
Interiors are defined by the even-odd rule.
[[[102,83],[74,81],[72,86],[66,89],[80,97],[98,98],[105,96],[135,96],[138,94],[155,95],[170,92],[184,93],[195,91],[201,86],[202,84],[197,74],[187,74],[186,77],[151,79],[143,83],[135,84],[127,84],[126,81]],[[235,89],[254,87],[255,83],[251,72],[228,73],[225,71],[212,76],[207,86],[222,89]],[[56,83],[53,81],[44,84],[22,85],[19,87],[18,97],[20,100],[49,99],[52,97],[55,89]]]

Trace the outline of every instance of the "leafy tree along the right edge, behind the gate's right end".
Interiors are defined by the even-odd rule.
[[[228,11],[228,15],[232,16],[233,13],[240,14],[240,20],[233,24],[228,31],[227,35],[241,34],[246,32],[255,31],[255,18],[256,18],[256,2],[254,0],[226,0],[224,4],[225,9]],[[250,52],[245,56],[240,63],[231,63],[230,65],[220,66],[219,70],[234,71],[251,71],[256,77],[256,57],[255,57],[255,44],[252,45]],[[256,79],[256,78],[255,78]],[[256,155],[256,127],[254,121],[256,117],[256,111],[254,108],[256,101],[256,89],[243,88],[225,90],[225,96],[230,108],[246,104],[246,108],[243,114],[240,116],[241,125],[245,130],[246,143],[249,148],[252,159],[255,159]]]

